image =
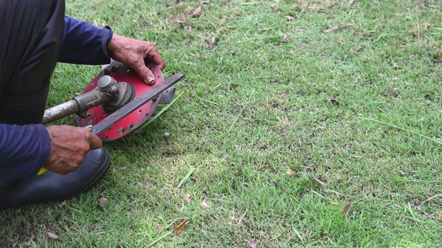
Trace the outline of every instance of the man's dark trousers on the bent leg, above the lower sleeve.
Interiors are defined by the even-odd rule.
[[[41,123],[64,8],[64,0],[0,0],[0,123]]]

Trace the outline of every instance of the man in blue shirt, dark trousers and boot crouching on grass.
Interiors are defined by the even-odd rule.
[[[154,83],[145,62],[166,66],[155,45],[64,15],[64,0],[0,0],[0,209],[71,198],[89,189],[111,156],[86,127],[41,121],[57,61],[111,58]],[[37,176],[41,167],[49,172]]]

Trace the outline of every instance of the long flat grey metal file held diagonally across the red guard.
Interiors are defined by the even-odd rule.
[[[119,110],[113,112],[113,114],[111,114],[110,116],[104,118],[103,121],[100,121],[95,126],[93,126],[92,133],[98,135],[106,131],[109,127],[112,127],[112,125],[120,121],[122,118],[137,110],[138,107],[146,104],[148,101],[155,99],[155,97],[160,95],[165,90],[169,89],[172,85],[177,83],[177,81],[180,81],[183,77],[183,74],[175,74],[169,79],[165,79],[162,83],[155,85],[155,87],[153,87],[148,92],[142,94],[136,99],[133,99],[133,101],[124,105]]]

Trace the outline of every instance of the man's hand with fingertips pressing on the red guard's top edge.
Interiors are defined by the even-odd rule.
[[[148,41],[138,41],[113,34],[108,43],[108,54],[112,59],[135,70],[147,85],[155,83],[155,78],[151,70],[146,68],[145,61],[154,63],[160,70],[166,68],[160,52],[153,43]]]

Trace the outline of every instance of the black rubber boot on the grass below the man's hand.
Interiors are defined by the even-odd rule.
[[[64,176],[46,172],[28,179],[1,179],[0,209],[72,198],[102,178],[110,163],[111,155],[102,147],[88,152],[80,167]]]

